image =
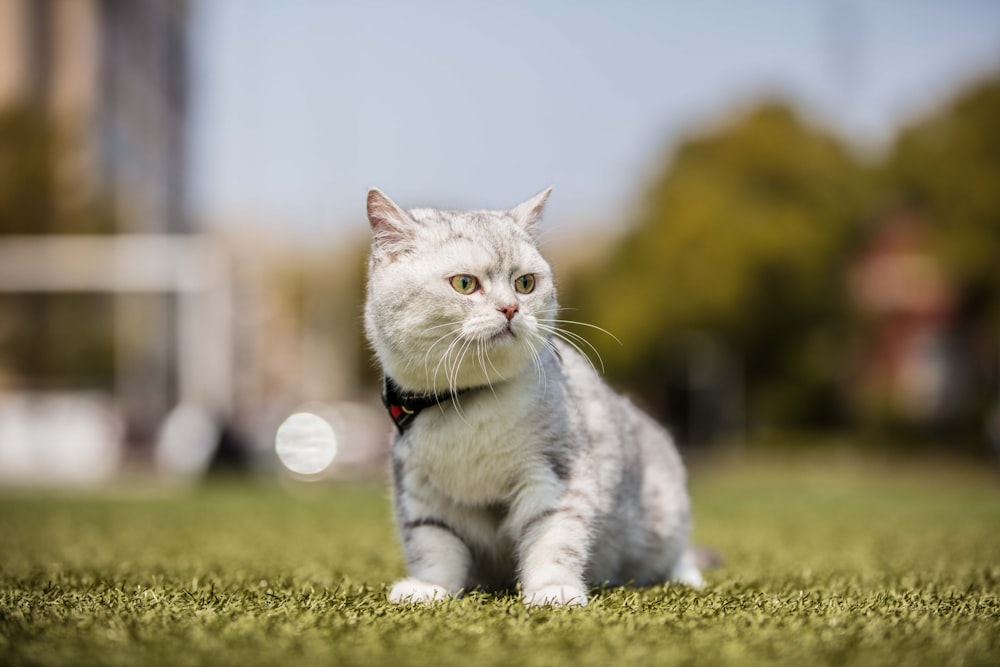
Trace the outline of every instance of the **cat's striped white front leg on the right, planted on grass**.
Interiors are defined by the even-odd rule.
[[[571,491],[556,503],[529,504],[542,507],[517,528],[525,604],[586,605],[584,571],[590,547],[589,503],[583,494]]]

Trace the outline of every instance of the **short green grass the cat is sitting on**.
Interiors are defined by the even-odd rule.
[[[1000,485],[955,466],[692,474],[701,591],[391,606],[382,485],[0,494],[3,665],[995,665]]]

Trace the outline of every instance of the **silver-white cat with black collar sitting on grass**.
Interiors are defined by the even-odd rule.
[[[536,233],[551,188],[506,211],[405,211],[368,192],[365,331],[396,425],[395,603],[520,586],[701,586],[685,471],[667,432],[561,328]],[[624,286],[623,286],[624,289]]]

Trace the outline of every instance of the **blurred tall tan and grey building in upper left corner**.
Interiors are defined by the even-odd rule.
[[[51,114],[125,231],[189,231],[187,41],[185,0],[0,0],[0,106]]]

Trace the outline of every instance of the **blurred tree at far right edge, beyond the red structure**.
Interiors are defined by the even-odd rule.
[[[903,131],[880,176],[920,215],[955,285],[952,337],[964,394],[957,417],[980,432],[997,401],[1000,74]]]

